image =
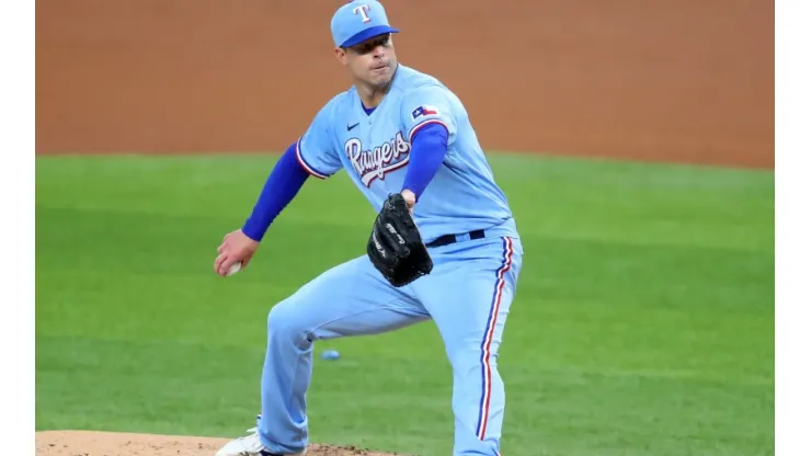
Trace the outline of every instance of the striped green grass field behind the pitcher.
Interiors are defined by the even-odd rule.
[[[523,236],[505,455],[774,454],[774,173],[490,155]],[[345,173],[212,271],[275,157],[37,157],[36,428],[241,435],[271,307],[364,254]],[[325,235],[322,239],[317,236]],[[433,323],[319,343],[311,441],[453,445]]]

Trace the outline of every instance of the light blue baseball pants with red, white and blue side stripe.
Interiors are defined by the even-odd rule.
[[[258,420],[267,449],[285,454],[307,446],[305,394],[315,341],[377,334],[432,319],[454,372],[454,455],[499,455],[504,384],[496,358],[521,271],[521,241],[484,238],[430,251],[433,272],[402,288],[390,286],[364,255],[324,272],[273,307]]]

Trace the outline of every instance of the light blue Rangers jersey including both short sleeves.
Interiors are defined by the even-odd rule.
[[[297,155],[321,179],[346,169],[378,213],[389,194],[402,190],[411,138],[434,123],[447,128],[448,151],[414,206],[423,240],[488,228],[495,236],[517,237],[461,101],[436,78],[403,65],[372,114],[354,88],[330,100],[300,138]]]

